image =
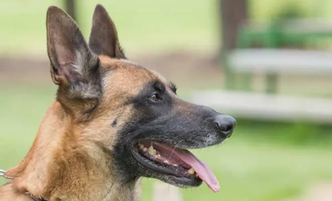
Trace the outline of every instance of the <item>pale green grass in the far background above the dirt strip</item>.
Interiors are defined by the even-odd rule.
[[[77,1],[78,24],[88,38],[97,3],[103,4],[117,26],[127,52],[155,52],[170,49],[215,50],[219,41],[217,1],[205,0],[89,0]],[[84,2],[84,3],[81,3]],[[258,21],[271,19],[287,2],[293,2],[306,16],[332,17],[332,3],[326,0],[252,0],[250,14]],[[61,8],[60,0],[0,0],[0,53],[45,55],[46,10]],[[291,5],[293,6],[293,4]]]

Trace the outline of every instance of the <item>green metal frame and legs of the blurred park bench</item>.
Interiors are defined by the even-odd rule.
[[[246,22],[237,34],[237,48],[251,48],[260,44],[263,48],[281,48],[283,45],[306,44],[310,40],[332,38],[332,24],[310,19],[275,21],[268,24]],[[222,56],[222,65],[226,73],[226,89],[235,89],[235,73],[227,62],[228,55]],[[251,90],[252,75],[241,77],[241,89]],[[277,92],[277,74],[266,77],[267,93]]]

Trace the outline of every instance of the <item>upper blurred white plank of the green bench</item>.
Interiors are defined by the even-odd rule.
[[[238,49],[228,63],[237,71],[264,70],[267,73],[332,73],[332,52],[285,49]]]

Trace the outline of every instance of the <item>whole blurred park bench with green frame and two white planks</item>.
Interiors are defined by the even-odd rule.
[[[278,26],[246,23],[239,32],[238,49],[223,59],[228,90],[196,91],[190,100],[235,117],[330,124],[332,99],[277,94],[279,73],[331,75],[332,79],[332,52],[280,49],[281,44],[327,37],[332,37],[332,25],[314,20],[287,20]],[[251,48],[256,42],[263,48]],[[257,71],[267,76],[267,93],[251,91],[251,74]],[[245,76],[236,80],[235,73]],[[234,90],[236,81],[242,82],[244,92]]]

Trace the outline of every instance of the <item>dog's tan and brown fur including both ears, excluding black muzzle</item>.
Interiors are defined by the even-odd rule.
[[[0,201],[31,201],[26,192],[50,201],[138,200],[140,179],[130,184],[119,181],[111,152],[119,131],[133,115],[127,98],[138,95],[148,82],[158,80],[169,91],[171,83],[125,59],[115,26],[100,5],[93,23],[90,48],[99,51],[99,58],[70,17],[49,8],[47,45],[51,77],[59,85],[57,97],[25,158],[6,172],[13,180],[0,188]],[[99,32],[101,28],[104,31]],[[91,69],[97,61],[103,72],[100,77]],[[186,113],[186,102],[179,105]]]

